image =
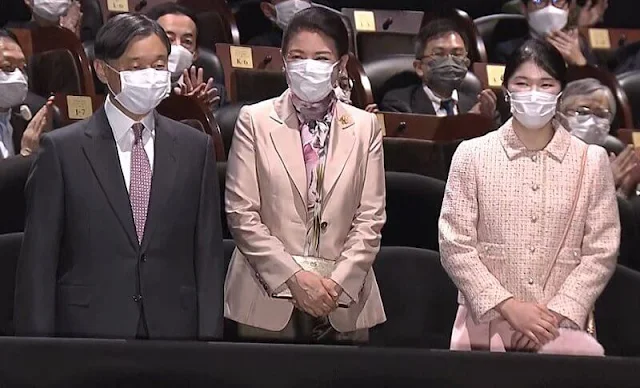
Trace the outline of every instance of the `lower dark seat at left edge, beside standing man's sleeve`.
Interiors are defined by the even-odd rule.
[[[13,296],[22,233],[0,235],[0,335],[13,335]]]

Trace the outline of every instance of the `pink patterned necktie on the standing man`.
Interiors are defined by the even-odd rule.
[[[144,236],[144,225],[147,222],[147,209],[149,208],[149,193],[151,192],[151,165],[149,157],[144,150],[142,143],[142,131],[144,125],[135,123],[133,129],[133,147],[131,149],[131,183],[129,186],[129,197],[131,200],[131,210],[133,211],[133,222],[136,226],[138,242],[142,242]]]

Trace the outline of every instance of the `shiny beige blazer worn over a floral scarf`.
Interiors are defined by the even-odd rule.
[[[386,220],[382,131],[373,114],[338,102],[329,132],[320,255],[352,300],[329,315],[349,332],[386,320],[373,261]],[[306,170],[289,92],[240,111],[226,179],[226,211],[237,248],[225,281],[225,317],[280,331],[293,305],[271,298],[300,270],[306,234]],[[349,299],[347,298],[347,299]]]

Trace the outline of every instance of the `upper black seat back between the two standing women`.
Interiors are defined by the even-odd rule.
[[[444,181],[406,172],[387,171],[387,222],[383,246],[439,251],[438,218]]]

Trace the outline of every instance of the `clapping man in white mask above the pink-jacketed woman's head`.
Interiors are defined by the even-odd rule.
[[[597,60],[578,30],[567,29],[569,9],[573,0],[522,0],[522,13],[529,23],[529,36],[499,43],[495,48],[495,62],[506,63],[527,39],[544,39],[551,43],[567,64],[595,65]]]

